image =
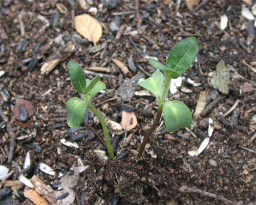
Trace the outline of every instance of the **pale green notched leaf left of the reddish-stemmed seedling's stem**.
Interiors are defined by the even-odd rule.
[[[157,100],[161,99],[163,89],[163,74],[160,71],[156,71],[150,78],[146,80],[144,78],[139,79],[137,84],[153,93]]]

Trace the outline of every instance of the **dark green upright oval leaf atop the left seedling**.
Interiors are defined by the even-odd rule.
[[[70,61],[68,64],[68,71],[70,80],[80,94],[84,94],[86,91],[86,75],[84,75],[81,65],[74,61]]]

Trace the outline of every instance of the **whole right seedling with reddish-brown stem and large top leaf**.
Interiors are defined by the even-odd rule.
[[[156,69],[152,77],[148,79],[140,79],[138,85],[150,91],[158,101],[157,116],[151,128],[147,131],[137,155],[137,160],[141,157],[146,143],[150,140],[150,136],[156,129],[162,113],[167,132],[175,132],[177,129],[189,127],[192,123],[192,116],[187,106],[178,101],[166,101],[165,97],[169,89],[172,78],[181,76],[193,63],[197,56],[198,43],[195,37],[186,38],[175,45],[170,51],[166,64],[163,65],[155,59],[148,59],[148,62]]]

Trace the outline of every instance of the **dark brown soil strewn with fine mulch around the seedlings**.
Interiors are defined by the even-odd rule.
[[[57,183],[59,172],[69,172],[78,166],[78,158],[88,166],[74,187],[76,197],[73,204],[226,203],[220,197],[237,204],[255,204],[256,126],[253,123],[256,81],[255,68],[253,70],[252,67],[255,64],[250,66],[253,61],[255,63],[255,38],[251,40],[251,36],[255,36],[255,28],[251,20],[241,15],[244,2],[200,1],[189,10],[185,1],[139,1],[139,21],[136,1],[118,1],[117,5],[110,1],[111,5],[103,7],[101,2],[108,4],[108,1],[89,2],[92,5],[88,4],[88,9],[98,8],[94,17],[103,27],[103,35],[97,45],[107,43],[104,49],[95,53],[90,52],[94,44],[77,37],[74,28],[74,16],[83,13],[93,16],[88,9],[83,10],[78,1],[0,2],[0,71],[5,72],[0,77],[0,103],[16,137],[13,147],[13,136],[7,129],[7,123],[5,128],[1,127],[1,163],[13,171],[8,180],[18,180],[25,155],[30,152],[31,163],[35,165],[33,171],[46,185]],[[57,3],[68,8],[66,14],[58,12]],[[251,8],[251,5],[246,7]],[[56,12],[59,14],[57,19],[54,18]],[[116,15],[118,12],[130,13]],[[224,14],[228,17],[228,25],[222,31],[220,17]],[[49,20],[49,27],[44,28],[45,22],[38,20],[39,15]],[[118,32],[109,28],[113,21],[117,27],[124,28],[119,38]],[[25,33],[22,33],[23,26]],[[60,40],[55,39],[57,36],[61,37]],[[143,72],[152,75],[155,71],[148,64],[146,55],[165,62],[174,45],[189,36],[195,36],[198,41],[197,59],[183,74],[180,90],[174,95],[168,94],[168,98],[184,102],[194,113],[200,92],[206,90],[206,106],[210,105],[211,109],[199,118],[194,117],[191,127],[175,133],[167,133],[161,119],[157,131],[151,136],[147,152],[136,161],[141,138],[156,116],[157,103],[152,98],[135,96],[134,92],[142,88],[131,79],[142,76]],[[74,45],[72,51],[69,50],[70,44]],[[111,58],[129,67],[130,55],[133,55],[137,69],[124,75]],[[42,65],[56,58],[60,58],[60,63],[49,74],[41,74]],[[84,70],[90,66],[111,68],[111,73],[96,72],[103,74],[101,81],[110,92],[93,98],[93,104],[105,114],[106,120],[121,123],[121,110],[117,106],[126,104],[134,107],[138,124],[127,132],[126,142],[123,141],[124,132],[117,135],[110,130],[115,144],[114,161],[103,160],[94,152],[104,150],[108,156],[99,140],[103,139],[101,125],[90,110],[80,125],[82,130],[72,132],[66,123],[65,104],[70,98],[79,97],[67,71],[71,60],[78,62]],[[231,68],[228,95],[221,94],[209,84],[220,60]],[[89,79],[94,77],[86,76]],[[200,85],[192,86],[188,78]],[[124,85],[124,81],[128,85]],[[189,92],[182,88],[189,89]],[[131,91],[125,97],[125,92],[117,92],[118,89]],[[8,93],[10,98],[5,97]],[[223,97],[214,101],[218,96]],[[20,122],[18,111],[14,113],[19,99],[27,100],[23,103],[35,108],[27,123]],[[237,100],[236,107],[223,117],[221,113],[232,108]],[[215,105],[212,102],[216,102]],[[214,127],[210,143],[198,156],[190,156],[188,151],[198,148],[208,137],[209,118],[213,120]],[[2,122],[3,115],[0,118]],[[77,142],[79,148],[60,143],[60,139],[69,141],[76,133],[88,134]],[[14,149],[13,158],[8,162],[11,147]],[[211,165],[209,162],[212,160],[216,164]],[[50,165],[57,174],[51,176],[39,171],[41,162]],[[216,194],[217,198],[200,191],[201,194],[182,192],[181,187]],[[0,187],[1,194],[4,188]],[[24,187],[12,191],[1,198],[1,204],[28,204],[28,201],[24,202]]]

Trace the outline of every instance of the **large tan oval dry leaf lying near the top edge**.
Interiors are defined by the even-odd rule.
[[[100,23],[88,14],[75,17],[75,29],[81,36],[93,43],[98,42],[102,36]]]

